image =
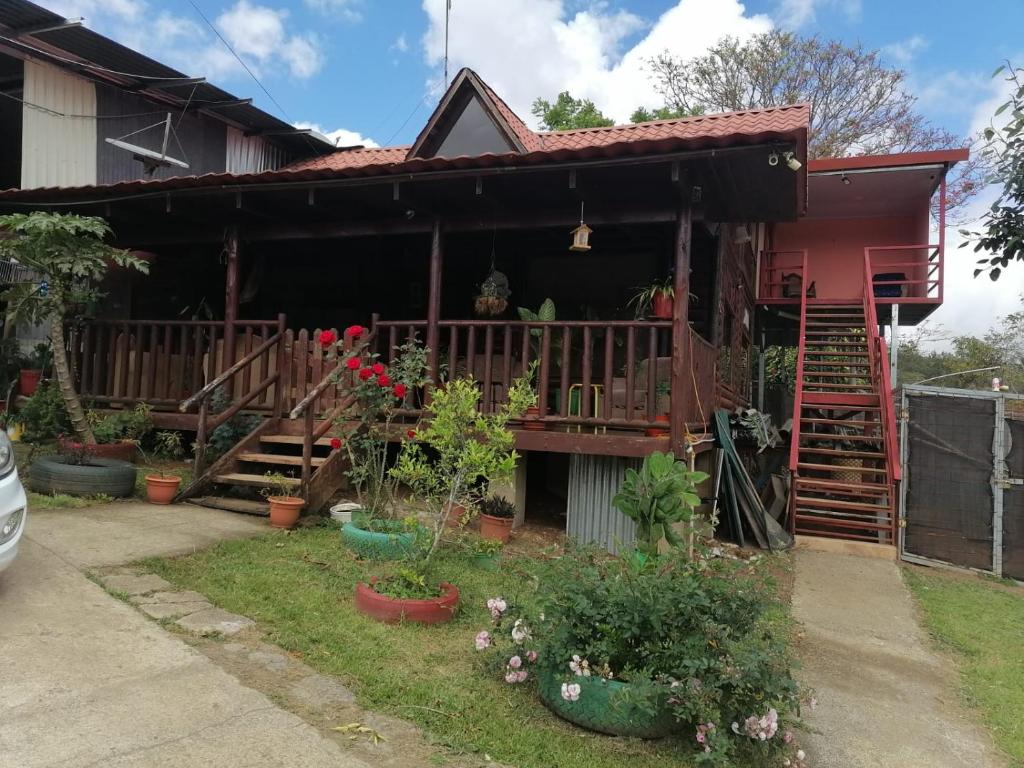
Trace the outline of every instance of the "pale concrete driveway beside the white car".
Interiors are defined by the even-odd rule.
[[[190,507],[33,514],[0,577],[0,768],[369,768],[78,570],[265,529]]]

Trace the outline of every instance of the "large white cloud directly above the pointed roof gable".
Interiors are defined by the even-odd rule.
[[[515,112],[535,123],[529,106],[559,91],[592,99],[618,122],[640,105],[662,99],[645,70],[669,50],[702,53],[725,35],[746,38],[771,28],[765,15],[748,15],[737,0],[679,0],[653,24],[594,4],[570,14],[564,0],[474,0],[452,6],[451,72],[471,67]],[[444,52],[445,0],[423,0],[429,19],[424,36],[427,62]],[[637,33],[643,36],[624,50]],[[438,83],[432,83],[434,87]]]

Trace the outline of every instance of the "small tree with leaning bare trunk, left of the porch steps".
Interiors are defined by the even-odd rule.
[[[18,283],[3,295],[16,322],[50,324],[53,372],[72,427],[87,444],[96,441],[65,346],[63,324],[101,297],[97,286],[112,264],[148,272],[150,265],[128,251],[106,245],[111,228],[95,216],[14,213],[0,216],[0,258],[13,259],[40,275],[40,283]]]

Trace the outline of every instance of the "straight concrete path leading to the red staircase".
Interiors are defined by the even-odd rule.
[[[931,651],[899,568],[798,550],[794,612],[803,682],[817,707],[805,738],[815,768],[998,768],[988,735],[957,705],[955,672]]]

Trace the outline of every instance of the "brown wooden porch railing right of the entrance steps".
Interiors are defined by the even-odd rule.
[[[424,341],[426,321],[378,321],[375,347],[389,361],[395,346]],[[690,332],[692,372],[683,382],[684,418],[705,423],[715,401],[716,351]],[[471,377],[480,408],[507,400],[508,387],[535,360],[540,420],[567,427],[665,427],[671,381],[672,323],[668,321],[441,321],[438,382]],[[653,365],[650,365],[653,361]]]

